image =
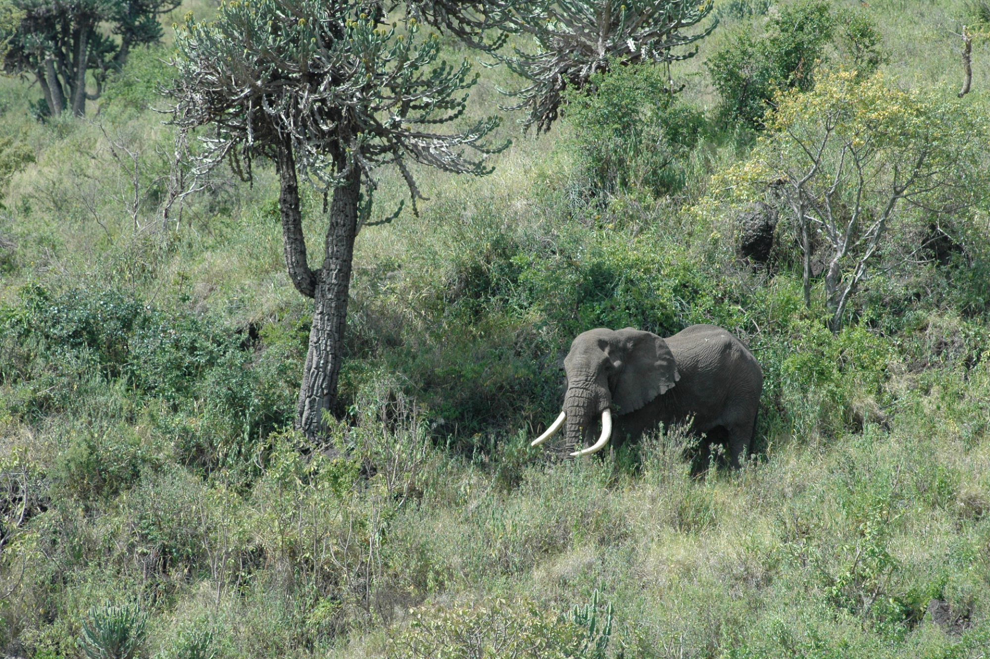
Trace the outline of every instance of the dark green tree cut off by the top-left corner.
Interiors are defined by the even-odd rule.
[[[2,0],[0,0],[2,1]],[[3,70],[33,75],[45,95],[42,115],[71,109],[82,116],[86,100],[100,97],[107,73],[124,65],[132,47],[161,38],[158,16],[180,0],[11,0],[0,21]],[[110,34],[106,34],[109,29]],[[116,38],[115,38],[116,36]],[[96,85],[86,89],[86,74]]]

